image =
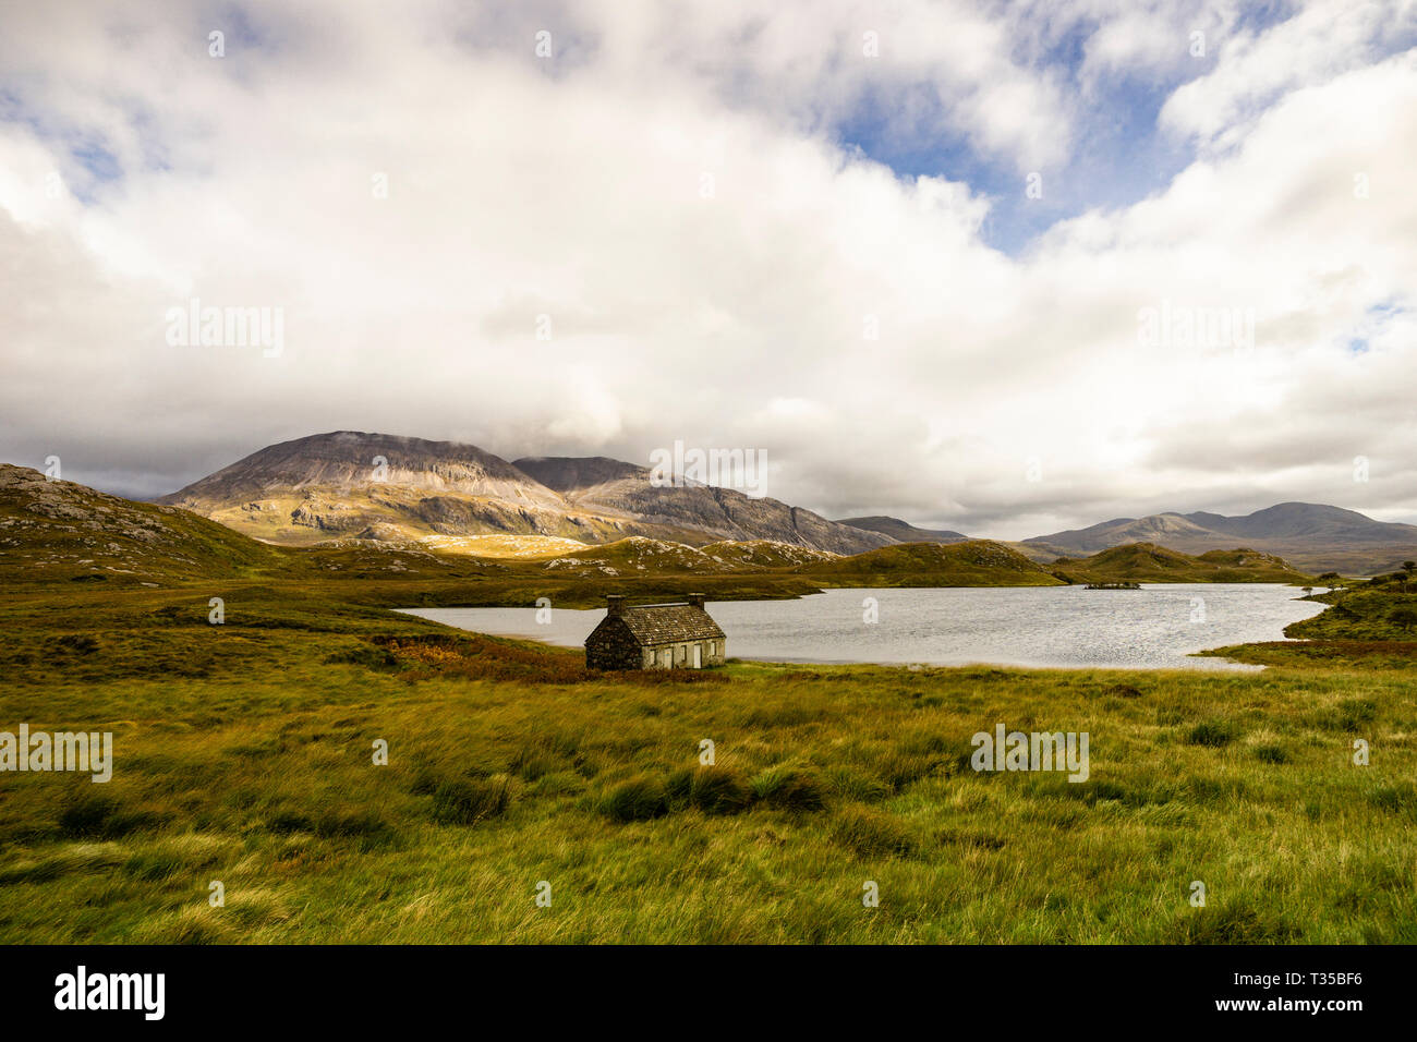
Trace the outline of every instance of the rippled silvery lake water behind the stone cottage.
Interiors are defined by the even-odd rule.
[[[921,662],[1125,669],[1244,669],[1189,658],[1206,648],[1284,639],[1322,604],[1268,583],[828,590],[796,601],[710,601],[728,655],[778,662]],[[867,622],[874,600],[876,622]],[[417,608],[462,629],[580,646],[605,610]]]

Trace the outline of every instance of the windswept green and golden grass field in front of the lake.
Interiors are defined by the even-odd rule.
[[[327,584],[228,586],[222,625],[210,593],[0,604],[0,730],[115,736],[108,784],[0,775],[4,943],[1417,941],[1396,641],[609,678]],[[1087,732],[1090,778],[973,771],[998,723]]]

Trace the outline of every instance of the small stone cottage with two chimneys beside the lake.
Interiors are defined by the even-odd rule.
[[[704,611],[704,595],[684,604],[625,607],[611,594],[601,624],[585,638],[591,669],[703,669],[727,658],[723,629]]]

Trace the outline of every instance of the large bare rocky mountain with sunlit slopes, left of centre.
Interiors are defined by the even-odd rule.
[[[288,546],[354,537],[453,550],[459,537],[479,534],[587,544],[643,536],[857,553],[890,542],[775,499],[656,488],[649,478],[648,468],[616,459],[510,464],[476,445],[336,431],[266,447],[157,502]]]

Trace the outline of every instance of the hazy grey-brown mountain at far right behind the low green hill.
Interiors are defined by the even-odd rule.
[[[1278,503],[1229,517],[1204,510],[1118,517],[1085,529],[1054,532],[1020,543],[1034,560],[1085,557],[1127,543],[1158,543],[1186,554],[1233,549],[1237,543],[1284,557],[1309,573],[1391,571],[1417,557],[1417,526],[1377,522],[1356,510],[1321,503]]]

